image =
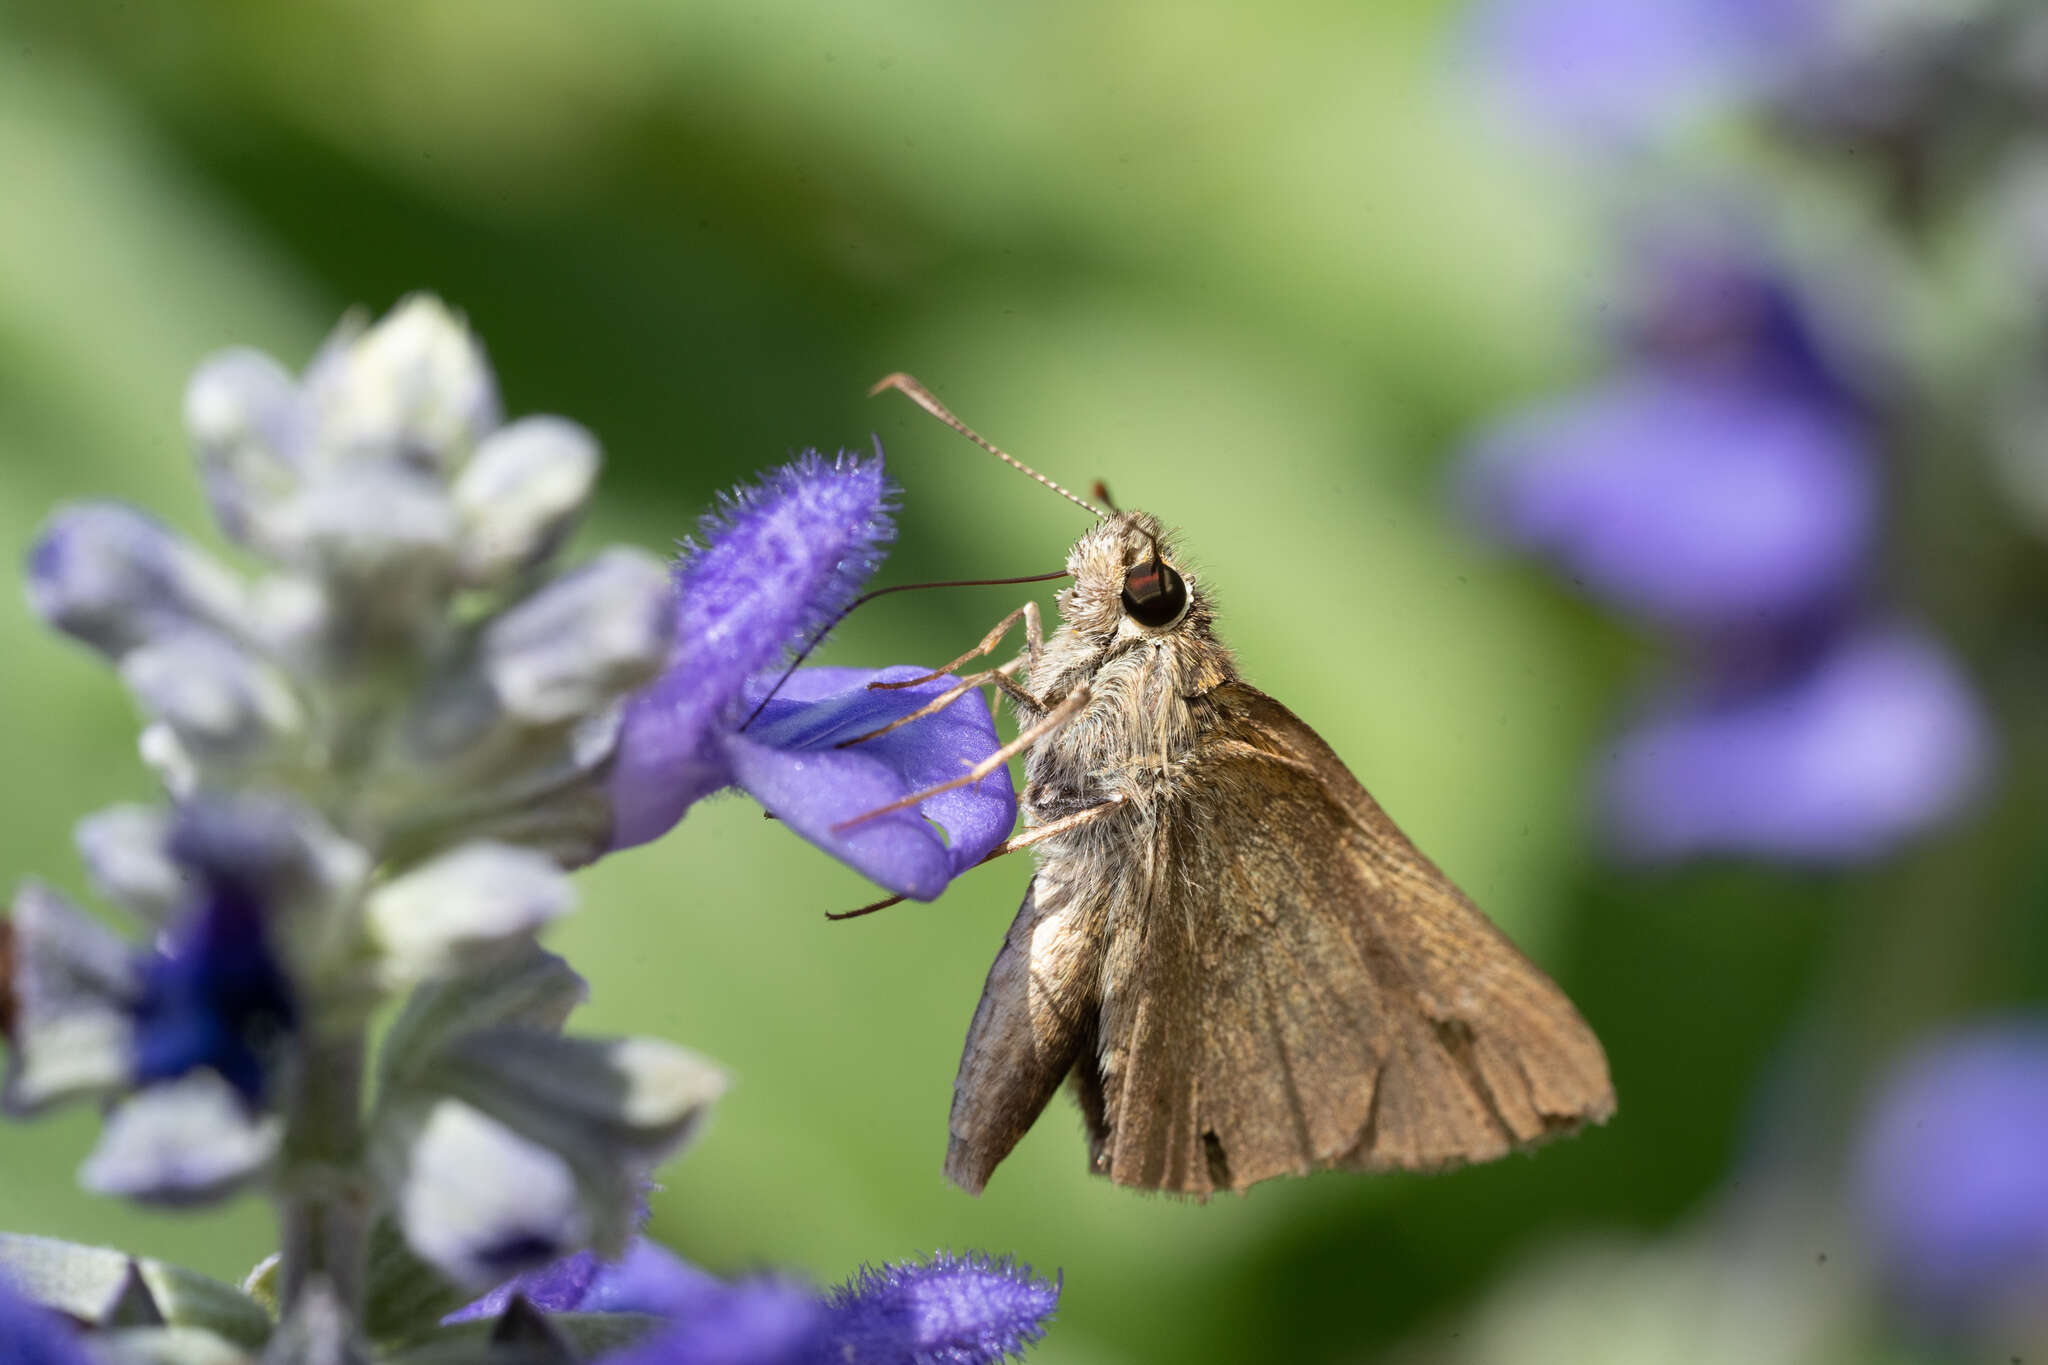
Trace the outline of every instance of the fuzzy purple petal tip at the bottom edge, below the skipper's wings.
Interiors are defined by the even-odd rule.
[[[1008,1257],[938,1252],[926,1263],[862,1269],[825,1302],[831,1336],[850,1363],[995,1365],[1044,1334],[1059,1283]]]

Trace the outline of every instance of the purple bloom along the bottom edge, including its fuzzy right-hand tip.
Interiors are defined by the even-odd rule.
[[[1010,1259],[940,1252],[817,1297],[776,1277],[729,1285],[641,1240],[614,1265],[584,1252],[508,1281],[451,1322],[498,1316],[514,1293],[545,1312],[676,1320],[604,1365],[993,1365],[1038,1340],[1059,1306],[1057,1283]]]

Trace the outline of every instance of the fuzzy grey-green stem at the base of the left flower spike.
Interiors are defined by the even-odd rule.
[[[285,1117],[279,1304],[326,1279],[350,1322],[362,1322],[375,1195],[362,1166],[360,1031],[305,1048]]]

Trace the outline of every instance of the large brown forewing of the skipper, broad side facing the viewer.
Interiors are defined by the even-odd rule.
[[[1200,1195],[1438,1169],[1614,1111],[1565,993],[1315,731],[1243,684],[1192,706],[1202,739],[1104,925],[1077,1066],[1100,1171]]]

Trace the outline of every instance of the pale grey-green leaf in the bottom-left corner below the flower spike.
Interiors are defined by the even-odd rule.
[[[139,1261],[111,1246],[80,1246],[45,1236],[0,1232],[0,1275],[39,1304],[98,1322],[127,1289],[129,1265],[174,1328],[205,1328],[242,1347],[270,1336],[262,1304],[217,1279],[162,1261]]]

